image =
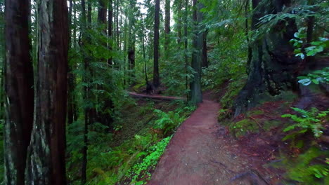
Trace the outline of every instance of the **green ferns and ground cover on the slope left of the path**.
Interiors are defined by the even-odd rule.
[[[174,109],[174,110],[172,110]],[[183,102],[127,102],[122,116],[106,133],[104,125],[89,125],[87,184],[144,184],[157,165],[176,128],[195,110]],[[69,125],[68,179],[80,184],[83,121]]]

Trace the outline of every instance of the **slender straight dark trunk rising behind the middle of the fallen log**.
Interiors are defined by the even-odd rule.
[[[153,85],[157,88],[160,85],[159,76],[159,43],[160,43],[160,0],[155,0],[154,16],[154,67],[153,67]]]

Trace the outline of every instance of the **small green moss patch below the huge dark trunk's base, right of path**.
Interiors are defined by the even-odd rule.
[[[259,126],[256,121],[246,118],[231,124],[230,131],[233,132],[236,137],[241,137],[247,133],[259,132]]]

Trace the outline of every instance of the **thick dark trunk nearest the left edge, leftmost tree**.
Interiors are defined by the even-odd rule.
[[[30,1],[5,1],[6,123],[5,184],[25,184],[27,146],[33,125],[33,67],[29,39]]]

